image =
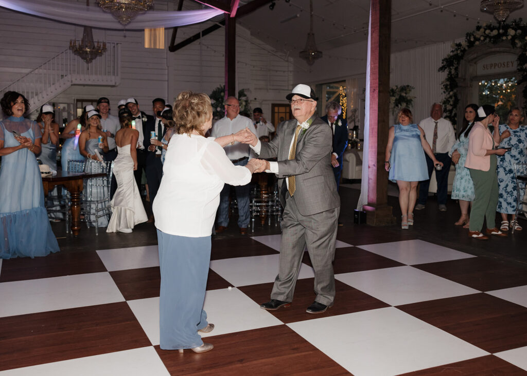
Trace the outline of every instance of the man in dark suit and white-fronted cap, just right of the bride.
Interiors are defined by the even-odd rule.
[[[139,103],[137,99],[135,98],[128,98],[126,100],[126,107],[130,110],[130,112],[133,115],[133,120],[135,121],[135,129],[139,131],[139,138],[137,140],[137,169],[133,171],[135,182],[138,186],[138,188],[141,190],[141,176],[143,174],[143,170],[145,171],[145,174],[147,175],[147,184],[149,185],[150,190],[150,182],[148,181],[148,174],[147,174],[147,154],[149,153],[148,147],[150,146],[150,131],[148,129],[154,128],[154,118],[151,115],[147,115],[143,111],[139,109]],[[156,190],[157,191],[157,190]],[[150,200],[150,205],[145,205],[145,210],[147,210],[147,214],[149,215],[148,221],[153,222],[154,216],[152,214],[152,202],[153,200]]]

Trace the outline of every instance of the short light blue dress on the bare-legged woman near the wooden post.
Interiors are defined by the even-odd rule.
[[[428,180],[421,131],[417,124],[396,124],[388,178],[393,182]]]

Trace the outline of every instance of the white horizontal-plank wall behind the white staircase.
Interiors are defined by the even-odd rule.
[[[172,9],[173,3],[157,0],[155,8]],[[176,43],[210,25],[212,22],[180,28]],[[82,29],[0,8],[0,88],[66,49],[70,39],[80,39]],[[172,29],[165,31],[167,47],[171,33]],[[285,102],[290,90],[292,60],[267,53],[272,48],[252,37],[245,28],[238,26],[237,34],[237,87],[246,89],[252,107],[262,107],[264,113],[270,114],[270,104]],[[133,96],[142,110],[151,113],[151,100],[155,97],[170,102],[182,90],[189,89],[210,94],[224,83],[223,28],[175,53],[167,48],[144,48],[142,31],[93,29],[93,36],[95,40],[121,43],[119,86],[72,86],[54,98],[55,103],[73,104],[76,99],[107,96],[116,114],[117,101]]]

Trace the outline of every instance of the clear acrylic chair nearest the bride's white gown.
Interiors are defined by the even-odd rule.
[[[95,235],[99,235],[99,219],[106,217],[109,220],[112,214],[110,205],[110,185],[113,175],[113,161],[100,162],[91,160],[84,166],[84,172],[96,173],[105,172],[105,176],[84,179],[84,189],[82,190],[82,219],[86,221],[86,226],[93,223]]]

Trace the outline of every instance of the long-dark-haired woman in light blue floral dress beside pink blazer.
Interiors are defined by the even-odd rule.
[[[474,182],[470,176],[470,170],[465,167],[465,161],[466,154],[469,151],[469,133],[474,125],[478,108],[479,106],[476,104],[470,104],[465,107],[465,118],[460,136],[452,146],[452,149],[450,149],[452,161],[456,165],[451,197],[453,200],[459,200],[461,209],[461,217],[454,225],[464,225],[463,228],[469,228],[469,206],[472,205],[474,200]]]

